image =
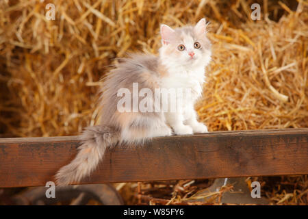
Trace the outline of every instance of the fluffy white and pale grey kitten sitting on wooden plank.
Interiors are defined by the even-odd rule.
[[[170,136],[172,132],[177,135],[207,132],[207,127],[198,123],[194,110],[194,103],[202,94],[205,66],[211,60],[206,27],[205,18],[194,27],[172,29],[162,25],[162,47],[158,57],[132,55],[116,65],[103,84],[101,125],[88,127],[81,134],[82,144],[77,156],[55,175],[58,185],[76,183],[89,175],[103,158],[105,149],[117,143],[142,144],[144,140]],[[182,103],[176,112],[170,107],[160,112],[120,112],[118,91],[121,88],[133,91],[133,83],[153,93],[157,88],[183,88],[190,89],[191,95],[185,101],[181,100],[183,96],[175,97],[175,101]],[[153,107],[162,103],[161,99],[158,103],[154,101],[155,95],[146,96],[147,103],[153,103]]]

